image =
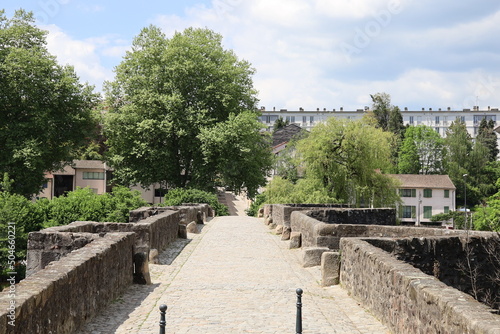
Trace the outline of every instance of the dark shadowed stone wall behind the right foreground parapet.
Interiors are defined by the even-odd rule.
[[[482,234],[365,241],[446,285],[500,309],[500,237],[496,233]]]

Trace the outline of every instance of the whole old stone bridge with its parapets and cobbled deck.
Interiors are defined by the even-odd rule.
[[[494,310],[441,282],[464,240],[498,235],[398,227],[393,209],[268,205],[251,218],[222,200],[233,216],[190,204],[30,234],[32,275],[14,305],[0,294],[0,334],[158,333],[162,304],[166,333],[291,333],[297,288],[304,333],[500,333]]]

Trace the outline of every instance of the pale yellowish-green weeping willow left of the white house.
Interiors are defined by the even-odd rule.
[[[392,169],[393,134],[366,120],[331,117],[297,145],[306,178],[323,185],[329,197],[355,206],[394,206],[395,180],[380,171]]]

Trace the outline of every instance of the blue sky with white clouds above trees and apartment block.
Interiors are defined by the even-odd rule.
[[[5,4],[5,2],[8,2]],[[209,28],[256,70],[259,107],[500,108],[498,0],[18,0],[49,51],[102,91],[135,36]]]

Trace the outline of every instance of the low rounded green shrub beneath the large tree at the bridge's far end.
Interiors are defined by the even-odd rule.
[[[165,195],[164,206],[181,205],[183,203],[206,203],[214,209],[217,216],[228,216],[227,206],[219,203],[217,195],[198,189],[176,188]]]

